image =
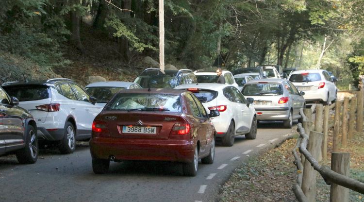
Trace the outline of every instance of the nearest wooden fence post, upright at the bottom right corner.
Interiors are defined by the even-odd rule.
[[[349,177],[350,153],[332,152],[331,170]],[[344,186],[331,184],[330,202],[348,202],[349,189]]]

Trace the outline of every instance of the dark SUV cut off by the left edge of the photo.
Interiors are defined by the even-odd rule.
[[[0,87],[0,155],[14,152],[19,163],[32,164],[38,159],[37,126],[18,103]]]

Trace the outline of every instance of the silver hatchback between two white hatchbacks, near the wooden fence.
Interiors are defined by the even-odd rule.
[[[300,118],[299,108],[305,106],[304,92],[285,79],[251,80],[244,85],[242,93],[253,98],[258,120],[283,120],[285,128]]]

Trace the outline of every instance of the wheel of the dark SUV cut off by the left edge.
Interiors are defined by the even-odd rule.
[[[16,152],[17,161],[21,164],[33,164],[38,160],[38,138],[36,130],[28,125],[24,134],[25,147]]]

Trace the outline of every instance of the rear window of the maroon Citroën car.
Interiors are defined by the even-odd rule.
[[[106,106],[104,111],[164,111],[182,112],[180,95],[119,93]]]

